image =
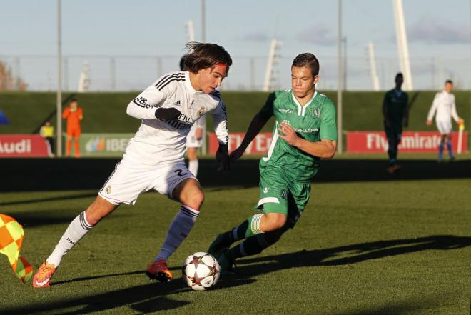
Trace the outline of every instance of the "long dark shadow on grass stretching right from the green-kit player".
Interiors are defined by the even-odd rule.
[[[288,254],[240,259],[236,261],[237,268],[235,270],[238,276],[252,277],[280,269],[355,264],[370,259],[380,259],[417,251],[460,249],[470,245],[470,236],[454,235],[373,241],[331,249],[303,250]]]

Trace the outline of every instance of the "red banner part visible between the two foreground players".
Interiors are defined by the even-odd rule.
[[[243,137],[245,133],[243,132],[236,132],[236,133],[229,133],[229,152],[234,151],[235,149],[240,146],[242,143]],[[255,139],[248,145],[247,149],[245,149],[245,154],[249,155],[263,155],[268,152],[271,144],[272,134],[271,132],[260,132]],[[215,154],[218,150],[218,138],[216,134],[209,135],[209,153]]]

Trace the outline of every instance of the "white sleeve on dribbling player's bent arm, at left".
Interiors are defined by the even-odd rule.
[[[126,114],[137,119],[156,119],[156,109],[166,98],[156,86],[149,86],[128,104]]]

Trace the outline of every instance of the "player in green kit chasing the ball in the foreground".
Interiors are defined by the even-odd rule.
[[[268,119],[275,116],[270,149],[259,166],[260,199],[255,209],[261,213],[219,234],[208,249],[223,272],[231,271],[235,259],[260,253],[295,226],[308,204],[310,183],[318,172],[320,158],[332,159],[335,154],[335,106],[315,91],[318,74],[319,61],[313,54],[296,56],[291,66],[292,89],[268,96],[242,143],[231,153],[231,161],[239,159]]]

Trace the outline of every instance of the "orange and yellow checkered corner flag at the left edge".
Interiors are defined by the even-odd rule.
[[[33,275],[33,267],[19,254],[23,235],[21,224],[11,216],[0,214],[0,253],[8,256],[14,273],[25,283]]]

